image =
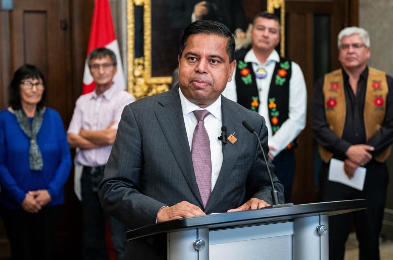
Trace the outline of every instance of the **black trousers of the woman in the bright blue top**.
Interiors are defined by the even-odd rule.
[[[13,260],[55,259],[56,232],[62,206],[43,207],[38,213],[0,207]]]

